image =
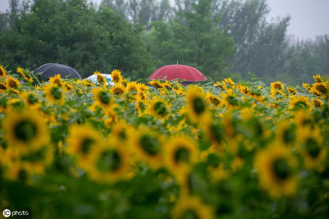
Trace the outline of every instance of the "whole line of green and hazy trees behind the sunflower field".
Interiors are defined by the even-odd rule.
[[[290,17],[268,22],[266,0],[9,0],[0,14],[0,62],[48,62],[83,76],[119,68],[133,79],[163,65],[191,65],[208,78],[311,82],[329,73],[329,42],[288,47]]]

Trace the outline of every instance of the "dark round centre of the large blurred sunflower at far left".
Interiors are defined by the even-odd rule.
[[[38,132],[34,123],[28,120],[23,120],[14,126],[14,133],[16,138],[23,142],[30,142]]]

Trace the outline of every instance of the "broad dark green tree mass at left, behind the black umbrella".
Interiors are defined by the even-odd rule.
[[[11,69],[58,62],[83,76],[118,68],[143,77],[152,64],[140,33],[129,22],[87,0],[34,0],[0,33],[0,50],[2,63]]]

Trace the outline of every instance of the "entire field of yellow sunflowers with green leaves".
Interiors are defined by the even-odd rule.
[[[0,66],[0,206],[31,218],[327,218],[329,83]],[[20,81],[25,79],[26,83]]]

